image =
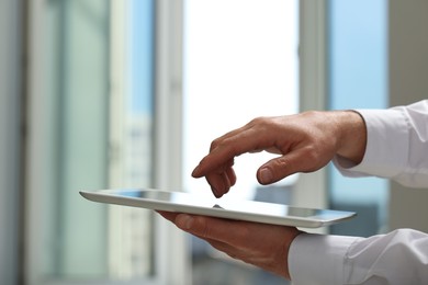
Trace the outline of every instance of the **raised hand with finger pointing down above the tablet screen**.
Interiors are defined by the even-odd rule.
[[[192,175],[205,176],[214,195],[221,197],[236,183],[233,166],[239,155],[261,150],[280,155],[257,171],[258,181],[269,184],[296,172],[316,171],[335,155],[359,163],[365,136],[365,124],[353,111],[259,117],[215,139]]]

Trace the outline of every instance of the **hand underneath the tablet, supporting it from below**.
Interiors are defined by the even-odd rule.
[[[296,228],[168,212],[159,214],[229,256],[290,280],[288,255],[291,242],[301,233]]]

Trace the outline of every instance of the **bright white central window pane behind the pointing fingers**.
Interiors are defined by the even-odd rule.
[[[184,187],[212,195],[205,180],[190,178],[211,141],[257,116],[295,113],[297,96],[297,1],[184,1]],[[238,182],[224,198],[266,193],[257,168],[271,157],[236,159]],[[283,190],[295,178],[278,185]],[[286,203],[286,197],[282,196]],[[284,284],[192,239],[194,284]]]

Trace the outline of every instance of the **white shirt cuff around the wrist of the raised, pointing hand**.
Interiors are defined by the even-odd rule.
[[[334,163],[346,176],[394,178],[405,169],[408,119],[402,109],[357,110],[367,126],[365,153],[360,164],[336,156]],[[391,144],[390,144],[391,142]],[[394,155],[392,155],[394,153]]]

